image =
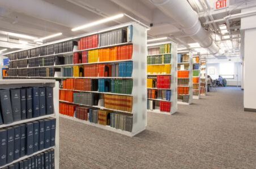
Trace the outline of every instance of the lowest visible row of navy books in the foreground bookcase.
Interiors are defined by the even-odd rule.
[[[16,162],[2,169],[25,169],[25,168],[55,168],[54,149],[46,150],[40,154],[33,155],[23,161]]]

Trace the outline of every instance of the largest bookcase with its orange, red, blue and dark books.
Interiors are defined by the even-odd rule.
[[[146,41],[130,22],[11,52],[7,78],[56,79],[61,117],[134,136],[147,125]]]

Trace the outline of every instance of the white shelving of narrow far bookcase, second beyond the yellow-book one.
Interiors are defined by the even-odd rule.
[[[199,59],[199,63],[195,63],[195,59]],[[194,55],[193,56],[193,99],[200,99],[200,56],[199,55]],[[194,69],[194,66],[198,65],[198,69]],[[194,71],[199,71],[198,75],[194,75]],[[195,83],[194,78],[199,78],[199,82]]]

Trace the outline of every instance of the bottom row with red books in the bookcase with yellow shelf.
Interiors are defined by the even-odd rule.
[[[155,110],[159,109],[161,112],[170,112],[172,103],[167,101],[156,101],[156,100],[147,100],[147,109]]]

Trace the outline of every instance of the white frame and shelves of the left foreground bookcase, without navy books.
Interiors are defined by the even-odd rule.
[[[6,163],[4,166],[0,166],[0,168],[5,168],[12,164],[19,163],[25,159],[33,157],[34,155],[38,155],[38,154],[47,152],[48,150],[52,150],[52,149],[54,149],[54,166],[55,166],[55,168],[59,168],[59,104],[58,104],[59,103],[59,100],[58,100],[59,82],[55,81],[53,79],[27,79],[26,81],[24,81],[22,79],[0,80],[1,89],[22,88],[22,87],[31,87],[31,86],[33,86],[33,87],[53,87],[53,104],[54,104],[53,114],[23,119],[23,120],[15,121],[15,122],[8,123],[8,124],[0,124],[0,129],[6,128],[6,127],[19,126],[20,124],[38,121],[38,120],[45,119],[45,118],[55,118],[56,119],[55,145],[50,146],[49,148],[39,150],[37,152],[33,152],[30,155],[24,155],[23,157],[15,159],[14,161],[12,161],[10,163]]]

